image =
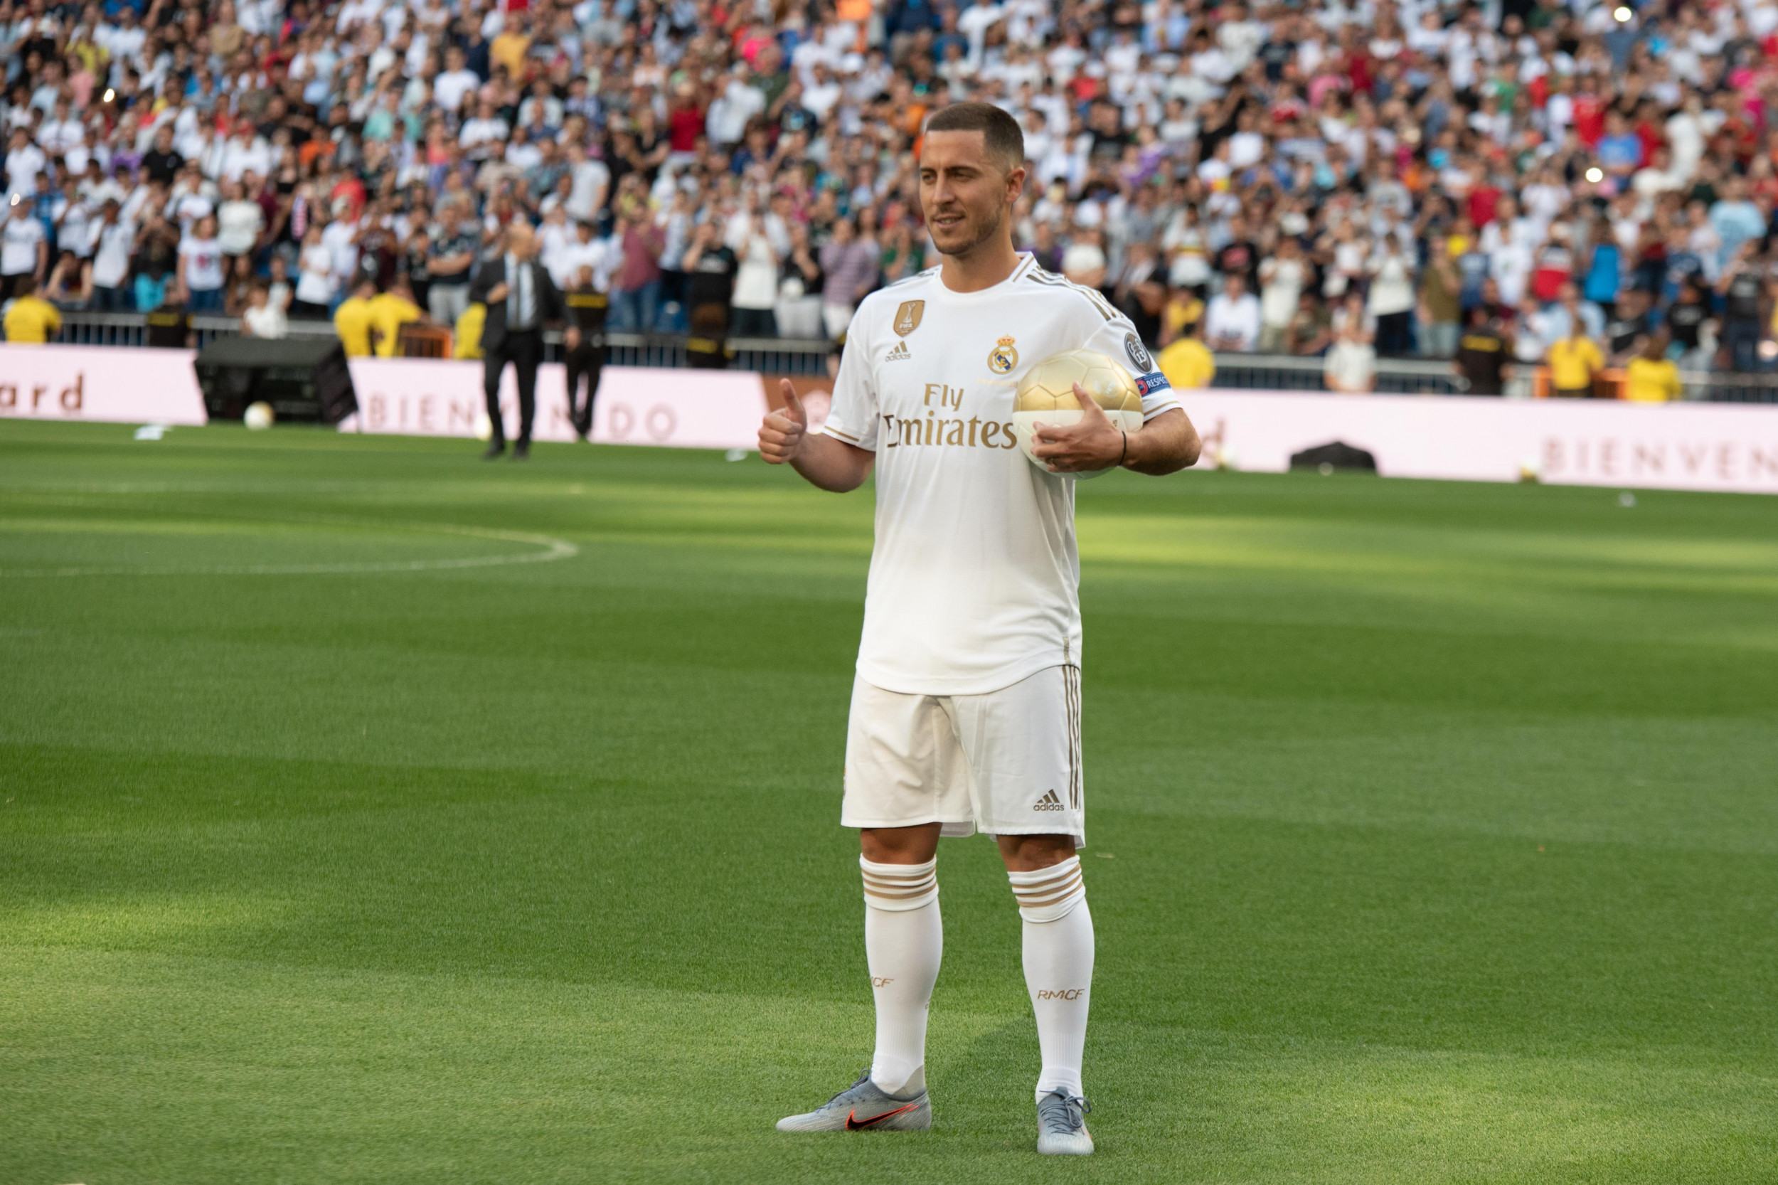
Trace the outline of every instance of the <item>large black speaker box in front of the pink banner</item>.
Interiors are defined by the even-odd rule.
[[[212,420],[240,420],[265,400],[281,423],[340,423],[357,411],[338,338],[217,338],[197,354]]]

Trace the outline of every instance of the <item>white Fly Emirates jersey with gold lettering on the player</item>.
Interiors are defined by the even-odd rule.
[[[1029,254],[981,292],[933,267],[859,304],[821,431],[877,454],[864,681],[974,696],[1079,664],[1074,479],[1031,464],[1012,425],[1024,372],[1072,349],[1124,365],[1143,420],[1179,406],[1134,326]]]

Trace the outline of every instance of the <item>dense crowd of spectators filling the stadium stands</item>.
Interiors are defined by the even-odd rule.
[[[0,32],[0,276],[41,320],[457,326],[523,221],[612,329],[837,338],[935,262],[921,125],[980,98],[1026,133],[1017,240],[1154,347],[1565,393],[1778,352],[1773,0],[4,0]]]

